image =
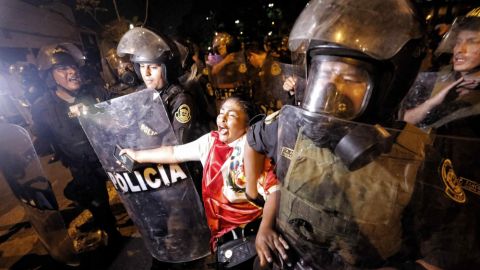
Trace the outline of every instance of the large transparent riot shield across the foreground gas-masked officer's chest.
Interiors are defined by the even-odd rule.
[[[478,134],[383,128],[391,136],[383,141],[387,149],[351,170],[338,147],[344,139],[350,149],[362,141],[382,144],[370,132],[378,127],[291,106],[280,113],[277,229],[298,269],[377,269],[416,260],[441,269],[479,267]]]

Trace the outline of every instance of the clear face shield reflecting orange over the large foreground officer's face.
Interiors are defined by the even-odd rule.
[[[368,72],[348,59],[315,56],[302,107],[310,112],[353,119],[365,109],[372,80]]]

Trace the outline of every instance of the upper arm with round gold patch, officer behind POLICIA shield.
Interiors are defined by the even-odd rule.
[[[197,106],[192,96],[180,93],[172,100],[170,107],[172,127],[180,144],[190,141],[198,117]]]

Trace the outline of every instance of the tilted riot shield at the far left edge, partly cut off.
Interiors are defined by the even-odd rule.
[[[0,172],[48,253],[62,263],[79,265],[52,186],[25,129],[0,124],[0,159]]]

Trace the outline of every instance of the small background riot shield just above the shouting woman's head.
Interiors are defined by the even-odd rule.
[[[249,94],[248,70],[245,56],[242,53],[231,53],[227,56],[206,56],[208,79],[215,88],[217,100],[223,100],[231,95]]]

